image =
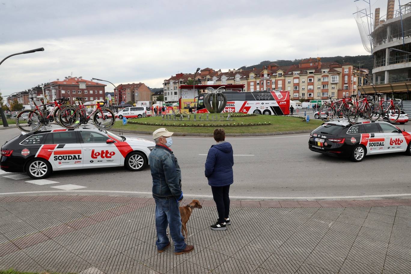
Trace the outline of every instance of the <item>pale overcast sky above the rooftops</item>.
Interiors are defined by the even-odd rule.
[[[372,11],[386,0],[371,0]],[[162,87],[197,67],[365,55],[353,12],[364,1],[0,0],[3,95],[83,76]],[[396,1],[397,9],[397,1]],[[106,91],[111,91],[108,86]]]

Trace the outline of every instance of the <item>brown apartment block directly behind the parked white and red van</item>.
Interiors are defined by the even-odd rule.
[[[113,104],[151,101],[151,91],[144,83],[120,84],[115,87]]]

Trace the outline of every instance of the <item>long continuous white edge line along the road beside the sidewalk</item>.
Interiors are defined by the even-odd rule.
[[[37,180],[39,181],[39,180]],[[120,191],[120,190],[46,190],[46,191],[22,191],[6,192],[0,195],[12,194],[34,194],[34,193],[56,193],[56,192],[102,192],[102,193],[123,193],[123,194],[146,194],[152,195],[152,192],[143,191]],[[212,195],[201,194],[184,194],[187,197],[212,198]],[[384,197],[402,197],[411,196],[411,193],[403,194],[381,194],[381,195],[361,195],[361,196],[314,196],[314,197],[269,197],[269,196],[230,196],[233,199],[258,199],[258,200],[307,200],[307,199],[353,199],[353,198],[384,198]]]

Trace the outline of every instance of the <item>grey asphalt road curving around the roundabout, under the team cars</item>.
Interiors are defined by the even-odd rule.
[[[411,124],[405,129],[411,131]],[[0,130],[0,144],[18,133],[18,129]],[[143,137],[151,140],[150,136]],[[307,134],[230,137],[226,140],[233,145],[234,154],[239,155],[234,156],[231,196],[328,197],[411,193],[411,157],[404,154],[374,155],[353,163],[348,159],[311,152]],[[173,138],[172,149],[182,170],[182,187],[186,196],[211,195],[204,177],[206,156],[201,154],[207,154],[214,143],[212,138],[206,137]],[[0,174],[4,175],[9,174]],[[81,191],[150,193],[152,185],[149,168],[140,172],[124,168],[59,171],[47,179],[56,183],[37,185],[25,182],[31,178],[12,180],[0,177],[0,193],[56,191],[58,189],[51,187],[62,184],[85,187]],[[112,194],[121,195],[118,192]]]

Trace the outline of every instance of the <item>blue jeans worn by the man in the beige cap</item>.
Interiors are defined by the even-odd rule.
[[[170,226],[171,238],[174,242],[174,252],[180,252],[185,249],[187,244],[181,234],[181,216],[177,200],[174,197],[155,200],[155,226],[157,229],[157,249],[162,250],[169,244],[167,237],[167,226]]]

